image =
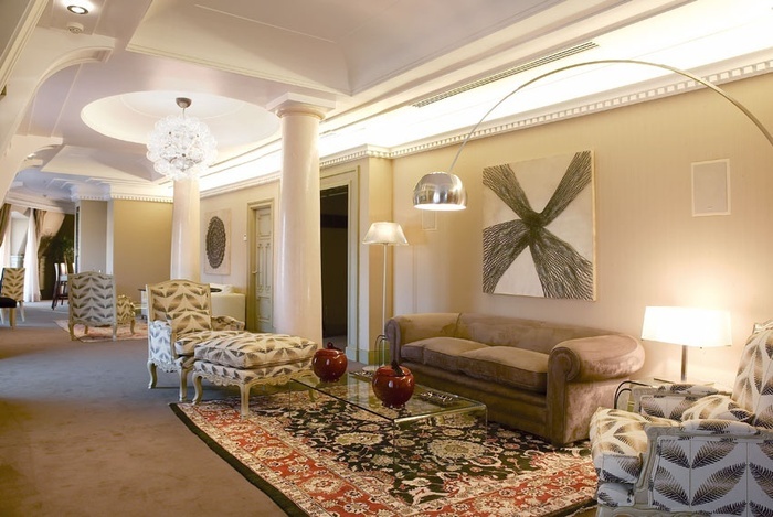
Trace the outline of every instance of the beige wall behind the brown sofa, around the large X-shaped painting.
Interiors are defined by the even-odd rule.
[[[773,74],[723,88],[773,128]],[[484,294],[483,168],[585,149],[595,160],[597,300]],[[438,213],[437,229],[423,230],[412,187],[455,151],[394,161],[395,219],[411,241],[395,250],[396,313],[481,311],[639,335],[646,305],[727,309],[734,345],[691,351],[688,374],[731,381],[752,323],[773,317],[773,147],[737,108],[700,90],[473,141],[454,171],[467,209]],[[693,217],[690,164],[716,159],[730,160],[732,213]],[[645,371],[678,376],[678,346],[645,346]]]

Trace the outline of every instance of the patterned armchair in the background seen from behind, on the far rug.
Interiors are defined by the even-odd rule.
[[[70,274],[67,279],[67,303],[70,305],[70,338],[75,340],[75,325],[110,326],[113,341],[116,341],[118,325],[128,324],[135,333],[135,308],[131,300],[116,295],[115,279],[112,274],[85,271]]]

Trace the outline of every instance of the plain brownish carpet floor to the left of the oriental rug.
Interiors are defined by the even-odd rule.
[[[174,375],[148,389],[146,340],[71,342],[66,305],[25,313],[0,326],[0,516],[285,515],[169,409]]]

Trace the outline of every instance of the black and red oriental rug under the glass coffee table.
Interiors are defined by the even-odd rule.
[[[414,422],[393,435],[369,412],[305,391],[172,410],[290,516],[570,516],[594,505],[586,442],[555,449],[489,422]],[[477,433],[477,435],[476,435]],[[396,445],[396,448],[395,448]]]

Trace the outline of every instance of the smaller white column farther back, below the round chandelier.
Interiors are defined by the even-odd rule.
[[[199,177],[174,182],[170,278],[201,281]]]

